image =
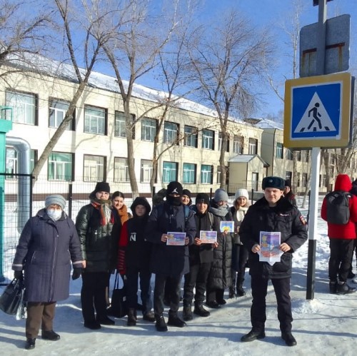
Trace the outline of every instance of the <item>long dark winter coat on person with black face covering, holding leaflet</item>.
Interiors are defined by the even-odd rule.
[[[196,223],[192,210],[185,219],[183,205],[156,205],[146,225],[146,238],[153,243],[150,268],[152,273],[177,277],[189,272],[188,245],[196,236]],[[186,220],[186,221],[185,221]],[[168,246],[161,241],[161,235],[168,232],[186,232],[188,245]]]

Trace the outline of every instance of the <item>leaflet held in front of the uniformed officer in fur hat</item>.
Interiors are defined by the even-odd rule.
[[[283,251],[279,248],[281,233],[261,231],[259,241],[261,245],[261,250],[258,252],[259,261],[268,262],[270,265],[280,262],[283,255]]]

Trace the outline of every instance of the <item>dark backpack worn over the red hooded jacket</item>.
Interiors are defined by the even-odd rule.
[[[342,190],[335,190],[326,195],[327,222],[345,225],[350,220],[351,194]]]

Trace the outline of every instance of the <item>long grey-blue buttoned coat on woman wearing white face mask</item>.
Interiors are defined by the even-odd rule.
[[[56,302],[69,297],[71,261],[81,267],[81,245],[73,221],[65,214],[51,220],[46,209],[30,218],[22,230],[12,265],[24,270],[25,300]]]

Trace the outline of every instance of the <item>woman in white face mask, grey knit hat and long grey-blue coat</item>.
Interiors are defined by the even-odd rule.
[[[56,302],[69,297],[71,261],[73,279],[81,275],[81,245],[65,205],[61,195],[46,197],[46,208],[27,221],[16,248],[12,269],[15,278],[22,278],[24,270],[27,350],[35,347],[40,325],[42,339],[59,340],[53,330],[54,312]]]

